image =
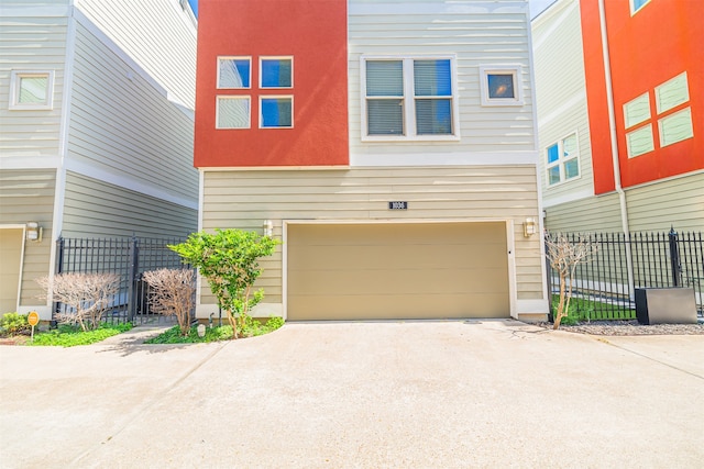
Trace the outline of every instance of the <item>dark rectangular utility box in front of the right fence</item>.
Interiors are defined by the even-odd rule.
[[[640,324],[696,324],[691,288],[637,288],[636,317]]]

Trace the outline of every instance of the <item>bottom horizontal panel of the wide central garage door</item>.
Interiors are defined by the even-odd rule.
[[[501,294],[421,294],[305,295],[289,298],[296,320],[421,320],[460,317],[506,317]],[[380,314],[383,311],[383,314]]]

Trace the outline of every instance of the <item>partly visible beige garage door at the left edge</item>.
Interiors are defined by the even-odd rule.
[[[0,228],[0,314],[18,309],[22,234],[21,228]]]

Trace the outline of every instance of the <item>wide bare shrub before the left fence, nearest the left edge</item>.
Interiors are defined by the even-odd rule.
[[[36,279],[46,298],[64,303],[67,308],[56,314],[63,324],[78,324],[84,331],[100,326],[110,301],[118,293],[120,276],[116,273],[58,273],[53,281],[48,277]]]

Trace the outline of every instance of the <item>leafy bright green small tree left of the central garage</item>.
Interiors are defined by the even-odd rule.
[[[278,241],[241,230],[216,230],[215,234],[193,233],[186,242],[169,245],[184,261],[197,267],[220,308],[227,312],[233,337],[249,320],[249,311],[264,298],[264,290],[253,291],[262,273],[258,258],[274,254]]]

